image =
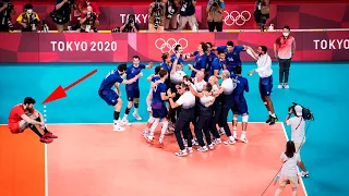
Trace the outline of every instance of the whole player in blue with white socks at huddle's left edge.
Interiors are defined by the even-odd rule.
[[[165,137],[165,133],[168,127],[168,122],[167,122],[167,108],[165,101],[168,100],[168,96],[166,95],[166,84],[165,81],[168,76],[168,73],[166,70],[160,70],[159,72],[160,79],[155,84],[156,86],[154,87],[153,90],[153,100],[152,100],[152,117],[154,119],[154,122],[151,127],[151,133],[147,137],[148,142],[153,143],[154,138],[154,132],[157,125],[159,124],[159,121],[163,120],[163,128],[161,128],[161,135],[159,138],[159,144],[163,146],[163,140]]]

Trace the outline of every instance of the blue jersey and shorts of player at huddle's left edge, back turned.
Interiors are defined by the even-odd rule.
[[[167,87],[165,83],[159,83],[153,90],[152,112],[153,118],[164,119],[167,117],[167,108],[165,101],[161,99],[161,94],[166,94]]]

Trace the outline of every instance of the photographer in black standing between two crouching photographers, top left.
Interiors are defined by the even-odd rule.
[[[68,29],[68,23],[71,17],[71,10],[75,8],[74,0],[55,0],[55,11],[50,13],[53,23],[57,24],[57,30],[63,33]]]

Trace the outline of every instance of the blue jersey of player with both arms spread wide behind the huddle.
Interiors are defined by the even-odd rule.
[[[229,72],[232,72],[237,65],[241,65],[240,52],[243,51],[242,46],[234,46],[232,52],[228,52],[227,46],[220,46],[217,50],[226,52],[226,66]]]

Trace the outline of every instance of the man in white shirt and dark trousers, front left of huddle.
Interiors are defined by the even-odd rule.
[[[177,91],[180,95],[180,97],[176,102],[173,101],[173,97],[176,95],[171,93],[171,89],[168,89],[167,95],[170,95],[169,103],[172,109],[178,107],[182,108],[176,121],[174,135],[176,135],[177,143],[180,147],[180,151],[176,152],[176,156],[183,157],[188,155],[188,151],[193,152],[192,138],[191,138],[192,134],[189,126],[194,119],[196,99],[195,99],[195,96],[190,91],[189,86],[184,83],[178,86]],[[185,148],[184,146],[181,132],[183,136],[186,135],[188,148]]]

